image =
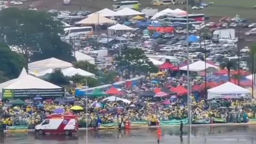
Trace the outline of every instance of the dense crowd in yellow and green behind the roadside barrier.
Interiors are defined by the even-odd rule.
[[[165,80],[163,80],[165,79]],[[185,119],[188,117],[187,95],[169,94],[166,97],[156,98],[152,95],[141,95],[145,91],[171,90],[172,86],[182,86],[187,88],[186,76],[179,78],[158,77],[157,83],[153,79],[140,80],[140,86],[131,90],[122,89],[122,95],[118,98],[124,101],[106,101],[106,97],[88,97],[87,113],[85,110],[85,97],[63,98],[61,100],[33,100],[25,105],[7,105],[2,102],[1,120],[7,126],[28,125],[29,129],[34,129],[35,125],[41,123],[47,115],[53,113],[72,113],[78,116],[79,127],[86,127],[88,118],[89,127],[98,127],[98,123],[118,123],[147,121],[149,125],[157,125],[159,122],[170,121],[172,119]],[[155,80],[156,81],[156,80]],[[202,79],[194,77],[192,83],[200,83]],[[166,92],[167,93],[167,92]],[[65,101],[68,99],[68,101]],[[26,101],[26,100],[25,100]],[[205,96],[196,98],[191,94],[191,114],[193,123],[205,123],[200,119],[209,118],[209,123],[247,123],[248,117],[255,117],[254,99],[214,99],[207,100]],[[83,110],[71,110],[74,105],[81,106]],[[56,111],[57,110],[57,111]],[[221,119],[221,121],[214,121]]]

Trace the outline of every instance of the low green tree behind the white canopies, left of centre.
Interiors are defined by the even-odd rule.
[[[85,71],[88,71],[92,74],[97,74],[98,73],[98,68],[96,65],[93,65],[92,63],[88,62],[88,61],[77,61],[73,63],[73,66],[75,68],[80,68],[83,69]]]

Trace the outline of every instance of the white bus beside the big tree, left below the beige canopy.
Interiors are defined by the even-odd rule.
[[[65,34],[62,37],[65,37],[67,40],[77,35],[92,35],[93,29],[92,27],[71,27],[65,28],[64,32]]]

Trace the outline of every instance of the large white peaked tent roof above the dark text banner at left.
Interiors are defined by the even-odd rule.
[[[46,82],[40,78],[28,75],[26,69],[23,68],[18,78],[0,84],[0,92],[2,89],[60,89],[60,86]]]

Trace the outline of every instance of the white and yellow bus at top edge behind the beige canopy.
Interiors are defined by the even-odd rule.
[[[122,2],[116,2],[113,5],[114,11],[119,11],[124,9],[125,7],[128,7],[130,9],[138,10],[140,9],[140,3],[138,1],[122,1]]]

